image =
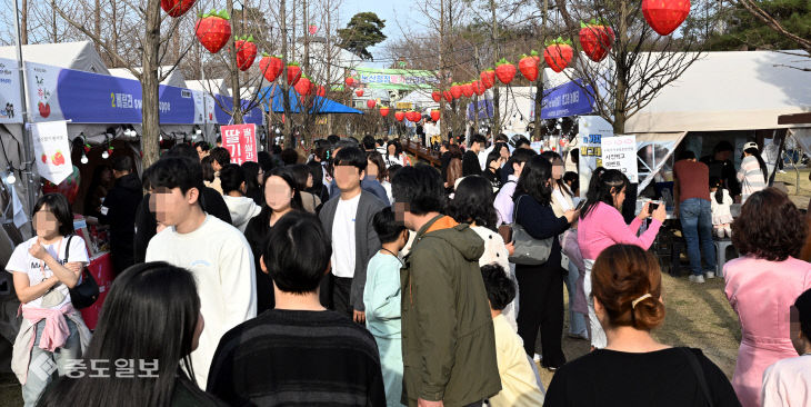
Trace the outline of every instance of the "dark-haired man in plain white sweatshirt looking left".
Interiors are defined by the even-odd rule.
[[[239,230],[200,207],[199,161],[161,158],[149,169],[149,181],[154,190],[150,207],[168,227],[149,241],[146,261],[166,261],[194,275],[206,329],[191,361],[203,387],[222,335],[257,316],[253,254]]]

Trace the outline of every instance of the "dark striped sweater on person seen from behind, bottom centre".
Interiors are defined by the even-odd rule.
[[[374,338],[334,311],[271,309],[234,327],[207,391],[231,406],[386,406]]]

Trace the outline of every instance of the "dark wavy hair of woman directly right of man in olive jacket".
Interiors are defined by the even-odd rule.
[[[487,178],[464,177],[453,192],[453,199],[448,201],[447,212],[460,224],[475,222],[477,226],[495,230],[498,217],[494,199],[493,186]]]

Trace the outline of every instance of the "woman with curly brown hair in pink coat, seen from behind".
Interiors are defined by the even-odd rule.
[[[741,322],[732,387],[743,407],[760,407],[767,367],[797,356],[789,308],[811,288],[811,264],[793,257],[807,234],[800,210],[774,188],[750,196],[732,224],[732,244],[742,257],[724,266],[724,292]]]

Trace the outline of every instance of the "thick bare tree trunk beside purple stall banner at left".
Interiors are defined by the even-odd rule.
[[[141,151],[143,168],[159,158],[160,109],[158,97],[158,49],[160,46],[160,0],[148,0],[141,71]]]

